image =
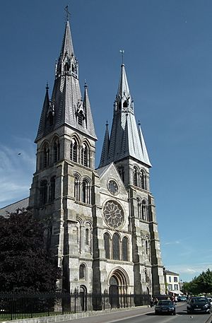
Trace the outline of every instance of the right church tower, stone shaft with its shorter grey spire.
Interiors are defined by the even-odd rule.
[[[106,125],[99,168],[114,163],[129,196],[129,231],[134,262],[134,293],[165,293],[155,204],[150,192],[151,163],[141,131],[136,124],[125,66],[114,100],[112,129]]]

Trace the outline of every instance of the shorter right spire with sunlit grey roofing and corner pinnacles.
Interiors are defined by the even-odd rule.
[[[125,66],[122,64],[114,100],[112,129],[109,136],[108,126],[106,127],[99,168],[128,157],[151,167],[140,124],[136,124],[134,101],[131,98]]]

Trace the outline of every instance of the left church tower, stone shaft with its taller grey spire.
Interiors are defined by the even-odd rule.
[[[80,266],[84,275],[79,259],[88,260],[87,270],[92,270],[91,188],[96,140],[88,87],[85,84],[82,97],[67,20],[51,99],[46,87],[30,189],[30,207],[45,222],[47,248],[63,271],[59,288],[67,291],[78,288]]]

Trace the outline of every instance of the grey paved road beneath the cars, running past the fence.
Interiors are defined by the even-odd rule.
[[[188,315],[186,304],[177,305],[177,315],[155,315],[151,307],[139,307],[81,319],[71,319],[66,323],[211,323],[210,315]]]

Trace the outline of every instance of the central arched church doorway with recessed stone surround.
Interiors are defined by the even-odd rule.
[[[109,298],[112,308],[127,307],[127,286],[129,278],[123,269],[113,271],[109,280]]]

